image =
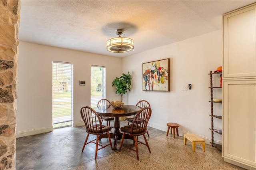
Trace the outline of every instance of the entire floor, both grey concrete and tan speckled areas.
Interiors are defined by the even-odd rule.
[[[120,121],[121,126],[127,125]],[[113,125],[113,123],[112,123]],[[138,145],[139,161],[136,152],[122,147],[122,150],[111,150],[110,146],[98,151],[94,159],[95,144],[82,146],[86,137],[84,127],[65,127],[53,132],[17,138],[17,170],[243,170],[238,166],[224,162],[221,151],[206,144],[205,152],[196,144],[192,152],[192,143],[184,138],[166,136],[166,132],[148,127],[150,146]],[[90,135],[94,138],[93,135]],[[139,140],[144,141],[143,137]],[[102,139],[103,144],[107,142]],[[113,140],[112,140],[113,142]],[[120,141],[118,141],[119,148]],[[124,141],[132,144],[132,140]]]

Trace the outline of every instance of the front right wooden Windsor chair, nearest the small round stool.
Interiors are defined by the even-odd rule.
[[[148,147],[148,151],[151,153],[149,145],[148,145],[148,141],[146,139],[145,133],[147,133],[147,125],[148,125],[148,121],[150,119],[151,116],[151,109],[150,107],[145,107],[143,109],[141,109],[137,115],[134,117],[133,122],[131,125],[126,125],[125,127],[121,127],[120,130],[121,132],[123,132],[122,135],[122,140],[120,142],[120,148],[119,151],[121,150],[122,146],[130,149],[130,150],[134,150],[132,147],[135,146],[135,150],[136,154],[137,154],[137,160],[139,160],[139,154],[138,154],[138,144],[144,144]],[[143,121],[141,121],[143,120]],[[132,146],[125,146],[122,145],[123,141],[124,141],[124,136],[125,134],[129,134],[130,136],[134,136],[134,143]],[[138,141],[138,136],[143,135],[144,140],[146,142],[142,143],[140,141]]]

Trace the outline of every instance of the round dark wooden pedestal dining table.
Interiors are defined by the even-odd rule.
[[[135,106],[135,105],[123,105],[121,108],[115,109],[111,105],[110,106],[100,106],[100,107],[93,107],[94,111],[98,113],[100,116],[108,116],[114,117],[114,133],[110,133],[110,137],[114,138],[114,146],[113,150],[117,150],[117,140],[122,138],[122,133],[120,131],[120,120],[119,117],[126,117],[136,115],[142,108]],[[108,138],[107,134],[102,134],[99,136],[101,138]],[[125,134],[124,138],[134,140],[133,136]]]

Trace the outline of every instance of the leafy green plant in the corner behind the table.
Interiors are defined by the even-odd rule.
[[[130,72],[128,71],[128,74],[122,73],[121,77],[116,77],[114,79],[112,86],[116,86],[116,94],[121,95],[121,101],[123,102],[123,95],[127,92],[130,91],[131,89],[131,81],[132,77],[130,75]]]

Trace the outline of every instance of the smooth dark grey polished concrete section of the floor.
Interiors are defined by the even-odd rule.
[[[106,125],[106,122],[103,123]],[[114,125],[114,121],[110,123]],[[127,121],[120,121],[120,126]],[[114,131],[112,128],[111,132]],[[150,138],[165,133],[162,130],[148,127]],[[65,170],[90,160],[94,160],[95,144],[88,144],[82,153],[82,147],[87,133],[85,127],[56,128],[53,132],[24,136],[16,140],[17,170]],[[146,135],[147,136],[147,135]],[[94,139],[89,135],[89,139]],[[102,143],[108,142],[102,139]],[[114,141],[112,140],[112,143]],[[120,141],[118,141],[119,148]],[[98,151],[97,158],[116,152],[110,146]],[[118,152],[118,151],[117,151]]]

